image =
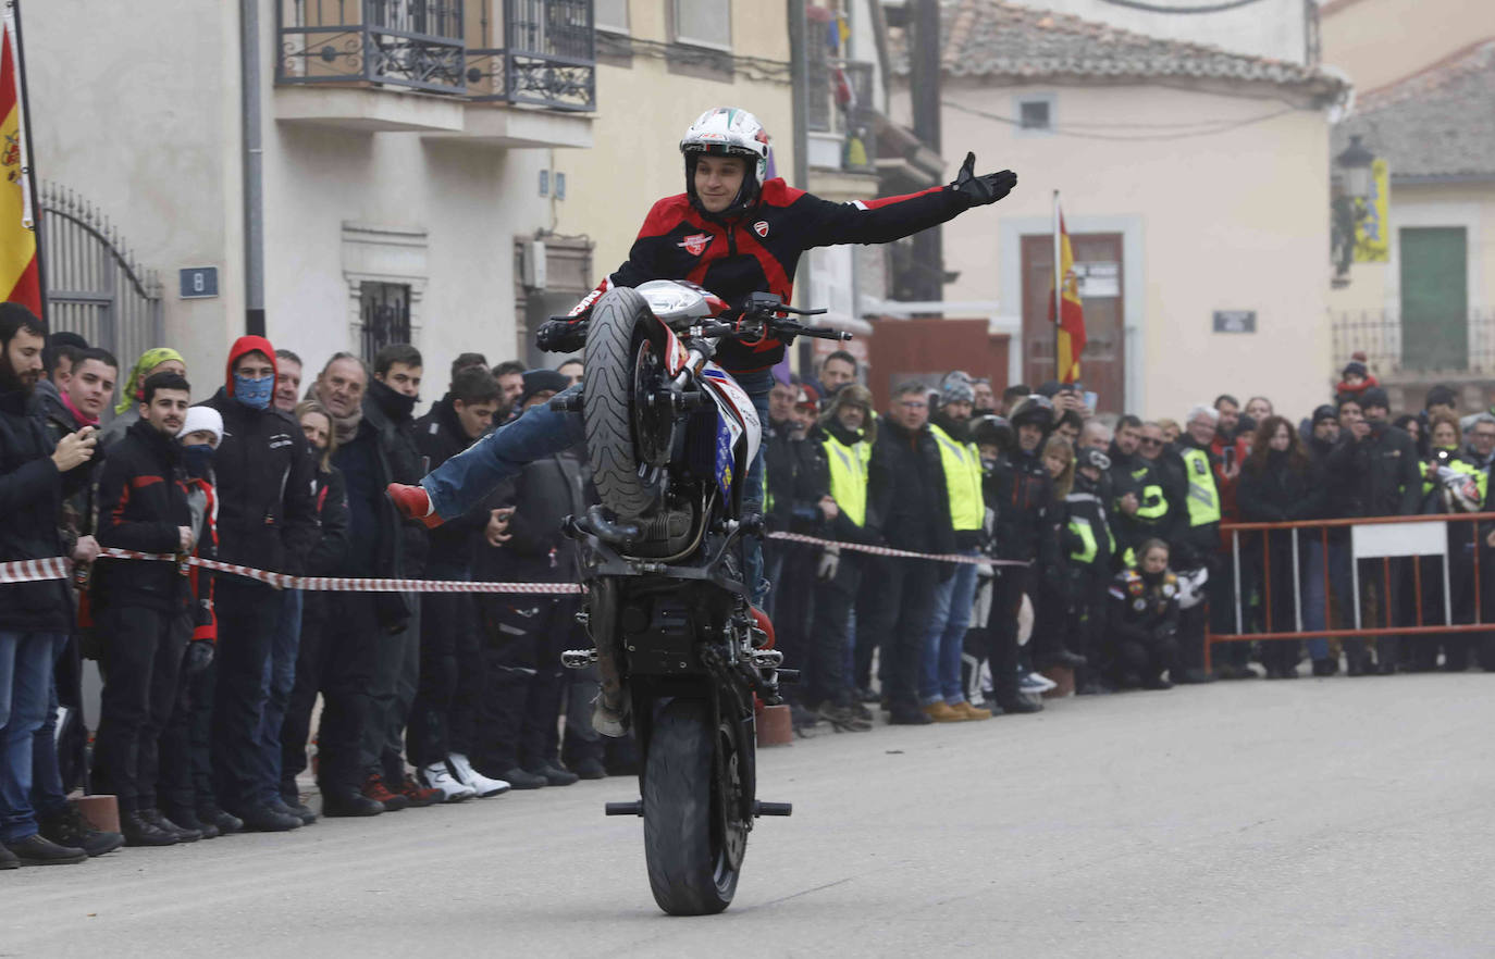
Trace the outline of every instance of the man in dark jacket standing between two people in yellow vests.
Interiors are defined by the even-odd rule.
[[[927,397],[924,384],[904,382],[893,394],[893,409],[878,421],[867,508],[879,517],[890,547],[949,553],[955,547],[949,487],[939,441],[928,429]],[[919,707],[924,636],[934,592],[940,580],[954,575],[952,566],[921,559],[882,559],[870,574],[875,602],[866,629],[882,644],[882,696],[891,723],[933,721]]]

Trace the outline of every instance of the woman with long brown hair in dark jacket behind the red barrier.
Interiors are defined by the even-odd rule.
[[[1323,512],[1325,497],[1323,480],[1304,453],[1292,423],[1284,417],[1268,415],[1256,427],[1251,456],[1245,457],[1241,468],[1241,482],[1236,487],[1241,521],[1311,520]],[[1302,556],[1313,535],[1313,530],[1242,535],[1242,572],[1250,571],[1253,581],[1266,583],[1268,563],[1271,568],[1271,603],[1263,609],[1263,632],[1298,632],[1293,538],[1298,539],[1296,554]],[[1262,596],[1265,603],[1266,590],[1262,590]],[[1266,666],[1268,680],[1298,678],[1298,641],[1262,641],[1262,665]]]

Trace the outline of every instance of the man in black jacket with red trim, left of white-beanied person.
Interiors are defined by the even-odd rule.
[[[99,545],[178,556],[193,551],[187,474],[176,442],[190,402],[191,388],[182,376],[147,378],[141,418],[109,451],[99,478]],[[105,677],[94,783],[117,796],[126,845],[194,842],[200,831],[173,823],[157,808],[160,736],[176,705],[196,605],[187,568],[102,559],[93,598]],[[179,745],[179,739],[167,742]]]

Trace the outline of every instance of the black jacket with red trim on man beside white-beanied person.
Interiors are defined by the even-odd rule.
[[[181,447],[148,421],[136,421],[124,439],[109,448],[99,478],[99,545],[178,553],[178,527],[191,524]],[[160,560],[100,559],[93,587],[96,606],[176,612],[193,600],[187,572],[176,563]]]

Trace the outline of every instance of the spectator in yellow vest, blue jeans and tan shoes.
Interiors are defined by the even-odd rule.
[[[940,408],[930,423],[930,433],[939,444],[945,474],[949,524],[955,551],[975,557],[979,553],[985,523],[985,502],[981,491],[981,456],[970,441],[970,412],[975,390],[952,379],[940,394]],[[934,590],[934,608],[924,633],[924,669],[919,683],[919,704],[936,723],[991,719],[990,710],[966,701],[960,683],[960,662],[970,626],[970,603],[976,596],[976,565],[957,563],[952,575],[942,578]]]

